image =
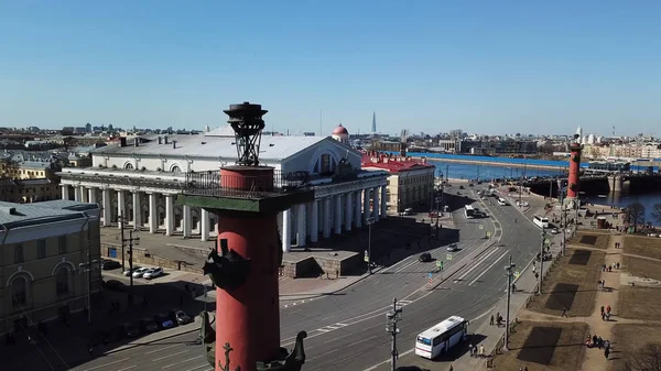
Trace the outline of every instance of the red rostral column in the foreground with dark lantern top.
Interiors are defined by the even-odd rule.
[[[203,341],[208,356],[215,346],[216,371],[300,370],[305,332],[291,353],[280,347],[278,214],[314,200],[314,190],[306,173],[283,175],[260,166],[267,110],[243,102],[225,113],[235,131],[237,165],[223,167],[219,177],[216,172],[191,174],[181,201],[218,216],[217,249],[204,266],[217,286],[215,345]],[[213,334],[206,325],[203,331]]]

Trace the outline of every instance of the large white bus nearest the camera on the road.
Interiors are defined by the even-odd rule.
[[[452,316],[418,336],[415,354],[434,359],[466,340],[467,335],[468,321],[462,317]]]

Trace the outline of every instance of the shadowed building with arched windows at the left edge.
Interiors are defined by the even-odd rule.
[[[95,204],[0,201],[0,334],[84,310],[100,288],[80,265],[99,260]]]

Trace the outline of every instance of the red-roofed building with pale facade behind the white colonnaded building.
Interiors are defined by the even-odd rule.
[[[386,171],[390,175],[386,198],[391,212],[432,208],[436,166],[425,160],[372,151],[364,153],[361,166],[367,171]]]

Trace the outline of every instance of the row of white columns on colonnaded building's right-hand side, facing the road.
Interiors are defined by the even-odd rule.
[[[282,250],[291,251],[292,241],[297,247],[317,242],[323,238],[360,228],[368,218],[378,221],[388,210],[386,186],[347,192],[296,205],[279,217]],[[372,201],[370,207],[370,201]]]

